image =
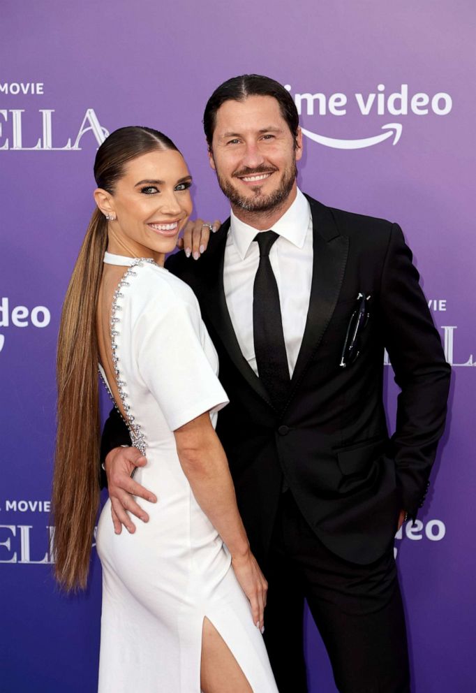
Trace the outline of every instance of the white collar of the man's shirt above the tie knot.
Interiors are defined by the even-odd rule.
[[[297,188],[296,199],[290,208],[283,214],[281,219],[278,219],[272,229],[280,236],[298,248],[304,246],[306,233],[311,219],[311,208],[309,203]],[[240,221],[233,212],[230,213],[230,233],[232,235],[233,245],[238,251],[241,260],[244,259],[248,252],[255,235],[259,233],[257,228],[245,224]]]

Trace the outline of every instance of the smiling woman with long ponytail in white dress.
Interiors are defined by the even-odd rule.
[[[135,534],[114,534],[109,502],[101,513],[99,691],[276,693],[260,633],[267,584],[212,425],[228,402],[216,352],[193,292],[163,268],[191,214],[191,175],[167,137],[142,127],[112,133],[94,175],[98,208],[59,334],[57,577],[68,589],[87,581],[99,367],[147,452],[140,483],[158,495]]]

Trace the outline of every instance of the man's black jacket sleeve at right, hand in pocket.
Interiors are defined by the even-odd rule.
[[[451,368],[397,224],[392,226],[382,270],[380,307],[385,347],[401,388],[392,456],[402,507],[415,519],[445,429]]]

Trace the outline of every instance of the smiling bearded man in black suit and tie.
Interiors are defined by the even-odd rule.
[[[396,224],[297,189],[302,133],[274,80],[218,87],[204,130],[231,217],[200,261],[179,253],[167,266],[198,296],[220,358],[230,404],[217,432],[269,582],[265,640],[278,689],[307,690],[307,599],[339,691],[407,692],[393,539],[426,495],[449,386],[410,250]],[[401,388],[391,439],[384,348]],[[124,443],[112,416],[104,451]],[[115,523],[121,503],[144,517],[124,489],[150,497],[122,471],[130,459],[121,448],[107,456]]]

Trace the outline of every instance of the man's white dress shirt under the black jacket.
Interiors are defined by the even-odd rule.
[[[309,203],[298,189],[295,201],[273,224],[279,238],[272,245],[269,261],[278,284],[284,342],[290,377],[295,369],[311,296],[313,275],[313,221]],[[260,262],[260,233],[230,214],[225,247],[223,288],[228,312],[241,353],[258,375],[253,342],[253,284]]]

